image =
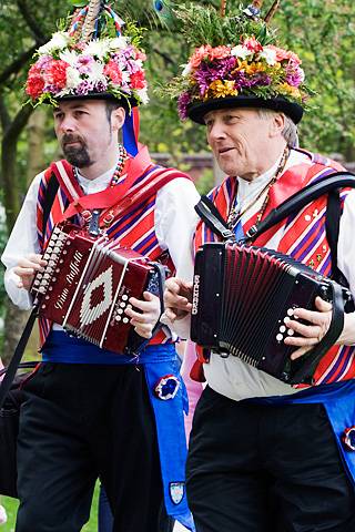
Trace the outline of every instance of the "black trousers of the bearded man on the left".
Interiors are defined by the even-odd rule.
[[[43,364],[24,393],[16,531],[79,532],[98,477],[113,532],[160,531],[163,491],[143,370]]]

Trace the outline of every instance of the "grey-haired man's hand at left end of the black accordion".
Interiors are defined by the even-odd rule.
[[[164,306],[165,316],[171,321],[185,317],[192,308],[192,283],[170,277],[165,282]]]

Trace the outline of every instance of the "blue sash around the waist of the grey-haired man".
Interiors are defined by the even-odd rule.
[[[336,438],[345,470],[355,488],[355,452],[347,449],[342,441],[344,430],[355,426],[355,379],[315,386],[291,396],[262,397],[247,401],[263,405],[322,403]]]

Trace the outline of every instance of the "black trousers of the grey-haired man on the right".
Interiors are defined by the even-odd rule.
[[[197,532],[354,532],[355,493],[321,405],[236,402],[206,388],[187,459]]]

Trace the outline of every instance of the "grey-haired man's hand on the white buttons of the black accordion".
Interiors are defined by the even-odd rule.
[[[296,319],[287,321],[287,328],[292,329],[297,336],[287,336],[285,344],[287,346],[298,347],[292,355],[291,359],[295,360],[302,357],[318,344],[325,336],[332,321],[332,305],[321,297],[316,297],[315,306],[317,310],[306,310],[297,308],[295,316],[307,324],[302,324]]]

